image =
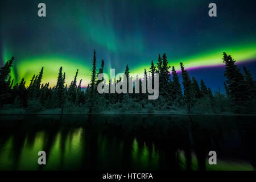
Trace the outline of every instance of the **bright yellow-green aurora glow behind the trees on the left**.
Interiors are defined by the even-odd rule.
[[[82,79],[82,86],[87,86],[90,78],[90,68],[85,63],[88,63],[88,61],[85,62],[72,57],[38,56],[17,61],[16,68],[18,78],[21,79],[24,77],[26,80],[26,86],[30,84],[29,81],[34,74],[39,74],[42,67],[44,67],[42,82],[49,82],[50,86],[56,84],[60,67],[63,67],[63,72],[66,74],[65,84],[69,86],[75,77],[76,70],[79,69],[77,82]]]

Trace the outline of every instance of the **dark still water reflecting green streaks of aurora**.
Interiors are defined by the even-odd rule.
[[[253,170],[255,116],[0,115],[1,170]],[[46,151],[46,166],[38,151]],[[209,165],[208,152],[217,152]]]

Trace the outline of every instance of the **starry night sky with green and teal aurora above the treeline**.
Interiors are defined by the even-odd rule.
[[[38,4],[46,4],[46,17]],[[208,5],[217,5],[209,17]],[[151,60],[167,53],[170,65],[182,61],[189,75],[203,78],[213,90],[224,92],[222,52],[232,55],[256,78],[255,1],[208,0],[34,0],[1,1],[1,66],[15,57],[11,76],[16,81],[44,66],[43,82],[56,84],[59,67],[67,84],[79,69],[82,86],[89,82],[96,49],[98,65],[142,73]]]

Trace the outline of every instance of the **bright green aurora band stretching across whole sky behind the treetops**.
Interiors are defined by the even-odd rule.
[[[212,67],[216,65],[223,65],[221,56],[222,52],[228,52],[233,56],[233,59],[237,60],[237,63],[242,63],[243,61],[251,61],[256,59],[256,42],[253,44],[241,44],[239,46],[232,46],[226,48],[219,48],[213,51],[200,53],[197,55],[181,57],[177,60],[172,60],[169,57],[169,65],[174,66],[177,71],[180,70],[180,61],[185,65],[186,69],[196,69],[201,67]],[[168,54],[167,54],[168,56]],[[3,54],[3,60],[9,60],[11,55],[7,51]],[[157,57],[157,55],[156,55]],[[103,58],[104,59],[104,58]],[[60,67],[63,67],[66,73],[66,84],[71,83],[73,77],[75,76],[76,70],[79,69],[78,79],[82,79],[82,86],[87,86],[90,80],[90,60],[82,60],[76,57],[63,56],[63,55],[48,55],[48,56],[35,56],[27,57],[14,63],[14,69],[11,71],[11,77],[15,79],[15,82],[19,82],[23,77],[26,80],[26,85],[28,86],[29,80],[35,74],[40,72],[42,66],[44,67],[44,75],[42,82],[49,82],[50,86],[56,84],[56,77]],[[156,61],[156,59],[155,59]],[[98,63],[100,61],[98,60]],[[138,65],[131,67],[131,73],[142,74],[144,68],[146,70],[150,67],[150,60],[142,60]],[[107,64],[108,65],[108,64]],[[105,68],[105,73],[109,76],[110,69]],[[15,70],[15,71],[14,71]],[[16,74],[15,74],[16,73]],[[115,72],[117,75],[117,72]]]

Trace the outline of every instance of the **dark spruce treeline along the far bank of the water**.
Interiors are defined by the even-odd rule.
[[[103,93],[97,92],[97,85],[101,82],[97,76],[104,72],[104,60],[97,69],[96,53],[92,61],[92,75],[86,90],[81,89],[81,81],[77,81],[79,70],[68,86],[65,82],[65,72],[60,67],[57,83],[50,87],[49,83],[42,83],[43,71],[34,75],[29,86],[24,78],[14,85],[14,80],[9,75],[13,66],[14,57],[7,61],[0,69],[0,105],[2,109],[23,108],[27,113],[38,113],[44,110],[60,109],[61,113],[254,113],[256,98],[256,82],[251,73],[243,67],[244,74],[236,66],[232,56],[222,58],[225,63],[224,82],[226,93],[212,93],[201,79],[197,82],[195,77],[190,77],[180,63],[183,91],[180,80],[174,67],[170,67],[166,53],[158,55],[156,64],[151,61],[151,67],[144,69],[143,80],[151,79],[159,74],[159,97],[157,100],[148,100],[148,94],[142,93],[142,79],[131,77],[128,65],[125,75],[127,88],[129,80],[139,82],[140,93]],[[170,74],[171,68],[171,74]],[[104,80],[107,85],[117,85],[122,77],[114,80]],[[152,79],[154,86],[154,79]],[[133,89],[134,84],[133,84]]]

